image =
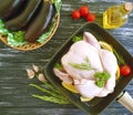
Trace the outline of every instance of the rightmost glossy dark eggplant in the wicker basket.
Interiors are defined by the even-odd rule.
[[[25,31],[25,41],[28,42],[35,42],[37,39],[48,30],[50,22],[54,14],[54,6],[51,2],[43,2],[40,12],[38,15],[32,20],[31,24]]]

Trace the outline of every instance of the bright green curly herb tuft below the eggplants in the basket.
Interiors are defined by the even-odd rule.
[[[17,40],[18,42],[23,42],[24,41],[24,31],[17,31],[13,32],[13,39]]]

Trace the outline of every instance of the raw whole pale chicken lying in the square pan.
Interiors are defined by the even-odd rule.
[[[114,91],[116,58],[112,52],[101,49],[90,32],[84,32],[83,40],[71,45],[62,56],[61,64],[64,72],[53,69],[54,74],[63,82],[73,84],[82,96],[103,97]],[[94,74],[103,71],[110,74],[110,79],[105,81],[103,87],[99,87]]]

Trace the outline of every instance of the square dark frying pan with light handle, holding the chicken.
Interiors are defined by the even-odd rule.
[[[111,44],[119,54],[121,54],[127,63],[132,72],[129,76],[123,77],[121,76],[116,80],[116,86],[112,94],[109,94],[105,97],[94,97],[90,102],[81,102],[76,94],[71,93],[70,91],[65,90],[61,85],[61,81],[54,75],[53,67],[57,62],[60,62],[62,55],[69,50],[72,45],[72,38],[74,35],[82,35],[83,32],[91,32],[98,41],[105,41]],[[108,33],[102,27],[96,23],[85,23],[79,30],[76,30],[66,41],[65,43],[59,49],[58,52],[53,55],[53,58],[49,61],[44,69],[45,77],[58,88],[62,92],[64,96],[66,96],[75,106],[82,109],[88,115],[95,115],[103,112],[108,105],[110,105],[113,101],[117,101],[127,107],[129,111],[133,113],[133,98],[124,91],[125,86],[131,82],[133,77],[133,58],[130,53],[110,34]],[[124,92],[123,92],[124,91]]]

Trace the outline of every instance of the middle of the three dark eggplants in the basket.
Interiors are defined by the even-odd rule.
[[[6,28],[11,31],[18,31],[27,27],[38,11],[40,4],[41,0],[28,0],[27,7],[23,11],[14,19],[6,22]]]

